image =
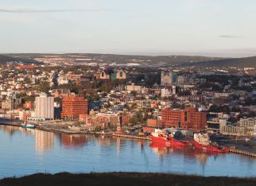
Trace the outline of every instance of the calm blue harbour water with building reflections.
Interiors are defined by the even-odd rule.
[[[0,126],[0,177],[34,172],[177,172],[256,176],[256,158],[162,148],[151,142]]]

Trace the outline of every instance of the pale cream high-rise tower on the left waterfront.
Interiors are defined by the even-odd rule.
[[[45,93],[36,97],[35,117],[54,119],[54,99]]]

